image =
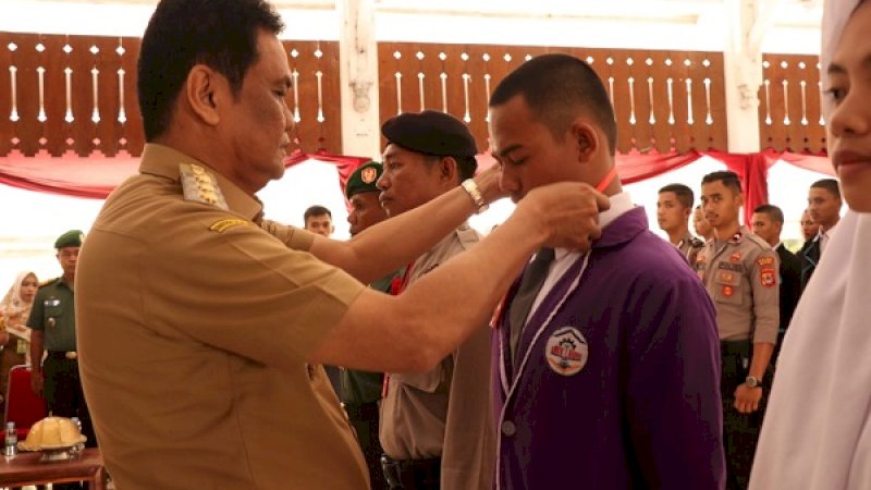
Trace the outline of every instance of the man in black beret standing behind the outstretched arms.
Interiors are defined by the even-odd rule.
[[[456,118],[404,113],[381,127],[387,138],[381,204],[400,216],[475,173],[475,138]],[[406,268],[407,287],[479,241],[463,223]],[[397,293],[400,293],[397,291]],[[481,328],[434,369],[387,376],[381,401],[384,476],[391,489],[490,490],[495,433],[490,403],[490,332]]]

